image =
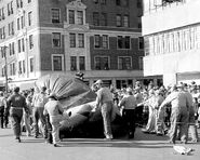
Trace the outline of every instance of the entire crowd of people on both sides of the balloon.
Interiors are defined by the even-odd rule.
[[[103,81],[97,80],[92,91],[97,95],[93,111],[101,108],[106,139],[114,138],[112,108],[117,107],[125,122],[129,138],[134,138],[136,126],[143,126],[142,131],[147,134],[168,134],[172,144],[177,139],[187,143],[188,132],[192,143],[199,141],[200,86],[195,82],[169,88],[155,86],[152,83],[143,86],[136,82],[134,86],[115,89],[112,85],[105,88]],[[38,138],[42,134],[46,143],[59,146],[59,122],[68,119],[63,115],[56,94],[45,86],[39,92],[35,92],[35,89],[21,92],[18,86],[9,95],[0,92],[1,129],[8,128],[10,119],[18,143],[24,125],[27,136]]]

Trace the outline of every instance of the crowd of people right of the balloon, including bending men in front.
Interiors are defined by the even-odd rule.
[[[132,125],[132,131],[128,129],[129,134],[134,133],[134,123],[136,123],[137,125],[145,124],[145,129],[142,130],[144,133],[157,135],[168,133],[173,144],[176,139],[187,143],[188,131],[191,142],[198,142],[200,86],[195,82],[179,83],[169,88],[158,88],[152,84],[144,88],[136,82],[134,88],[110,90],[115,104],[120,108],[123,107],[122,117],[128,125]],[[131,116],[129,112],[132,112]]]

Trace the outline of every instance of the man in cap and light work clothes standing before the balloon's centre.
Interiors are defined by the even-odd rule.
[[[96,96],[96,108],[101,108],[103,122],[104,122],[104,134],[106,139],[112,139],[112,132],[111,132],[111,114],[112,114],[112,94],[108,88],[103,88],[103,81],[97,80],[95,82],[97,88],[97,96]]]

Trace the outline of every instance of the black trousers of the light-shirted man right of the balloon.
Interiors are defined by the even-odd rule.
[[[123,109],[122,117],[126,124],[129,137],[133,138],[135,133],[135,109]]]

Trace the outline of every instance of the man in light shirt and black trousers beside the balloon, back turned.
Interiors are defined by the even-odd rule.
[[[126,95],[119,103],[119,107],[123,107],[122,118],[125,121],[129,138],[134,138],[135,133],[135,108],[136,98],[131,88],[126,89]]]

